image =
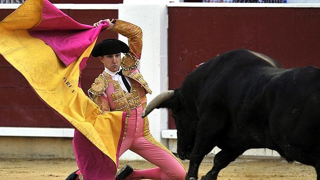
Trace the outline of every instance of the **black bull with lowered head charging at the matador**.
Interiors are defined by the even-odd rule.
[[[282,69],[273,59],[248,50],[227,52],[191,72],[182,86],[150,102],[170,108],[177,153],[190,159],[187,180],[197,179],[204,156],[221,151],[202,180],[252,148],[269,148],[287,161],[315,167],[320,180],[320,69]]]

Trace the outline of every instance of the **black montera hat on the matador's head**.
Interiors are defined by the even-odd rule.
[[[126,43],[118,39],[105,39],[93,47],[91,55],[93,57],[98,57],[127,52],[129,52],[129,47]]]

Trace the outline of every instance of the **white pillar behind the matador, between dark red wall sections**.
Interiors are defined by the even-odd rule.
[[[143,48],[140,63],[141,74],[148,82],[152,95],[150,101],[162,91],[168,89],[167,73],[167,0],[124,0],[119,5],[118,18],[138,25],[143,32]],[[119,36],[127,42],[127,38]],[[162,144],[161,130],[168,128],[168,117],[165,109],[155,110],[148,116],[151,134]],[[122,160],[141,159],[131,151],[121,156]]]

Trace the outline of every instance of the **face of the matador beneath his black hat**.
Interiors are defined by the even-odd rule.
[[[99,56],[99,60],[109,71],[117,72],[121,65],[121,53]]]

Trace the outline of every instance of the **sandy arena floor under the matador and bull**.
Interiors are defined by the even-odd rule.
[[[130,164],[135,169],[154,167],[145,161],[120,162],[120,167]],[[186,169],[188,162],[184,161]],[[202,163],[199,178],[212,168]],[[0,180],[64,180],[77,169],[75,160],[0,160]],[[218,180],[316,180],[313,167],[284,160],[238,159],[223,169]]]

